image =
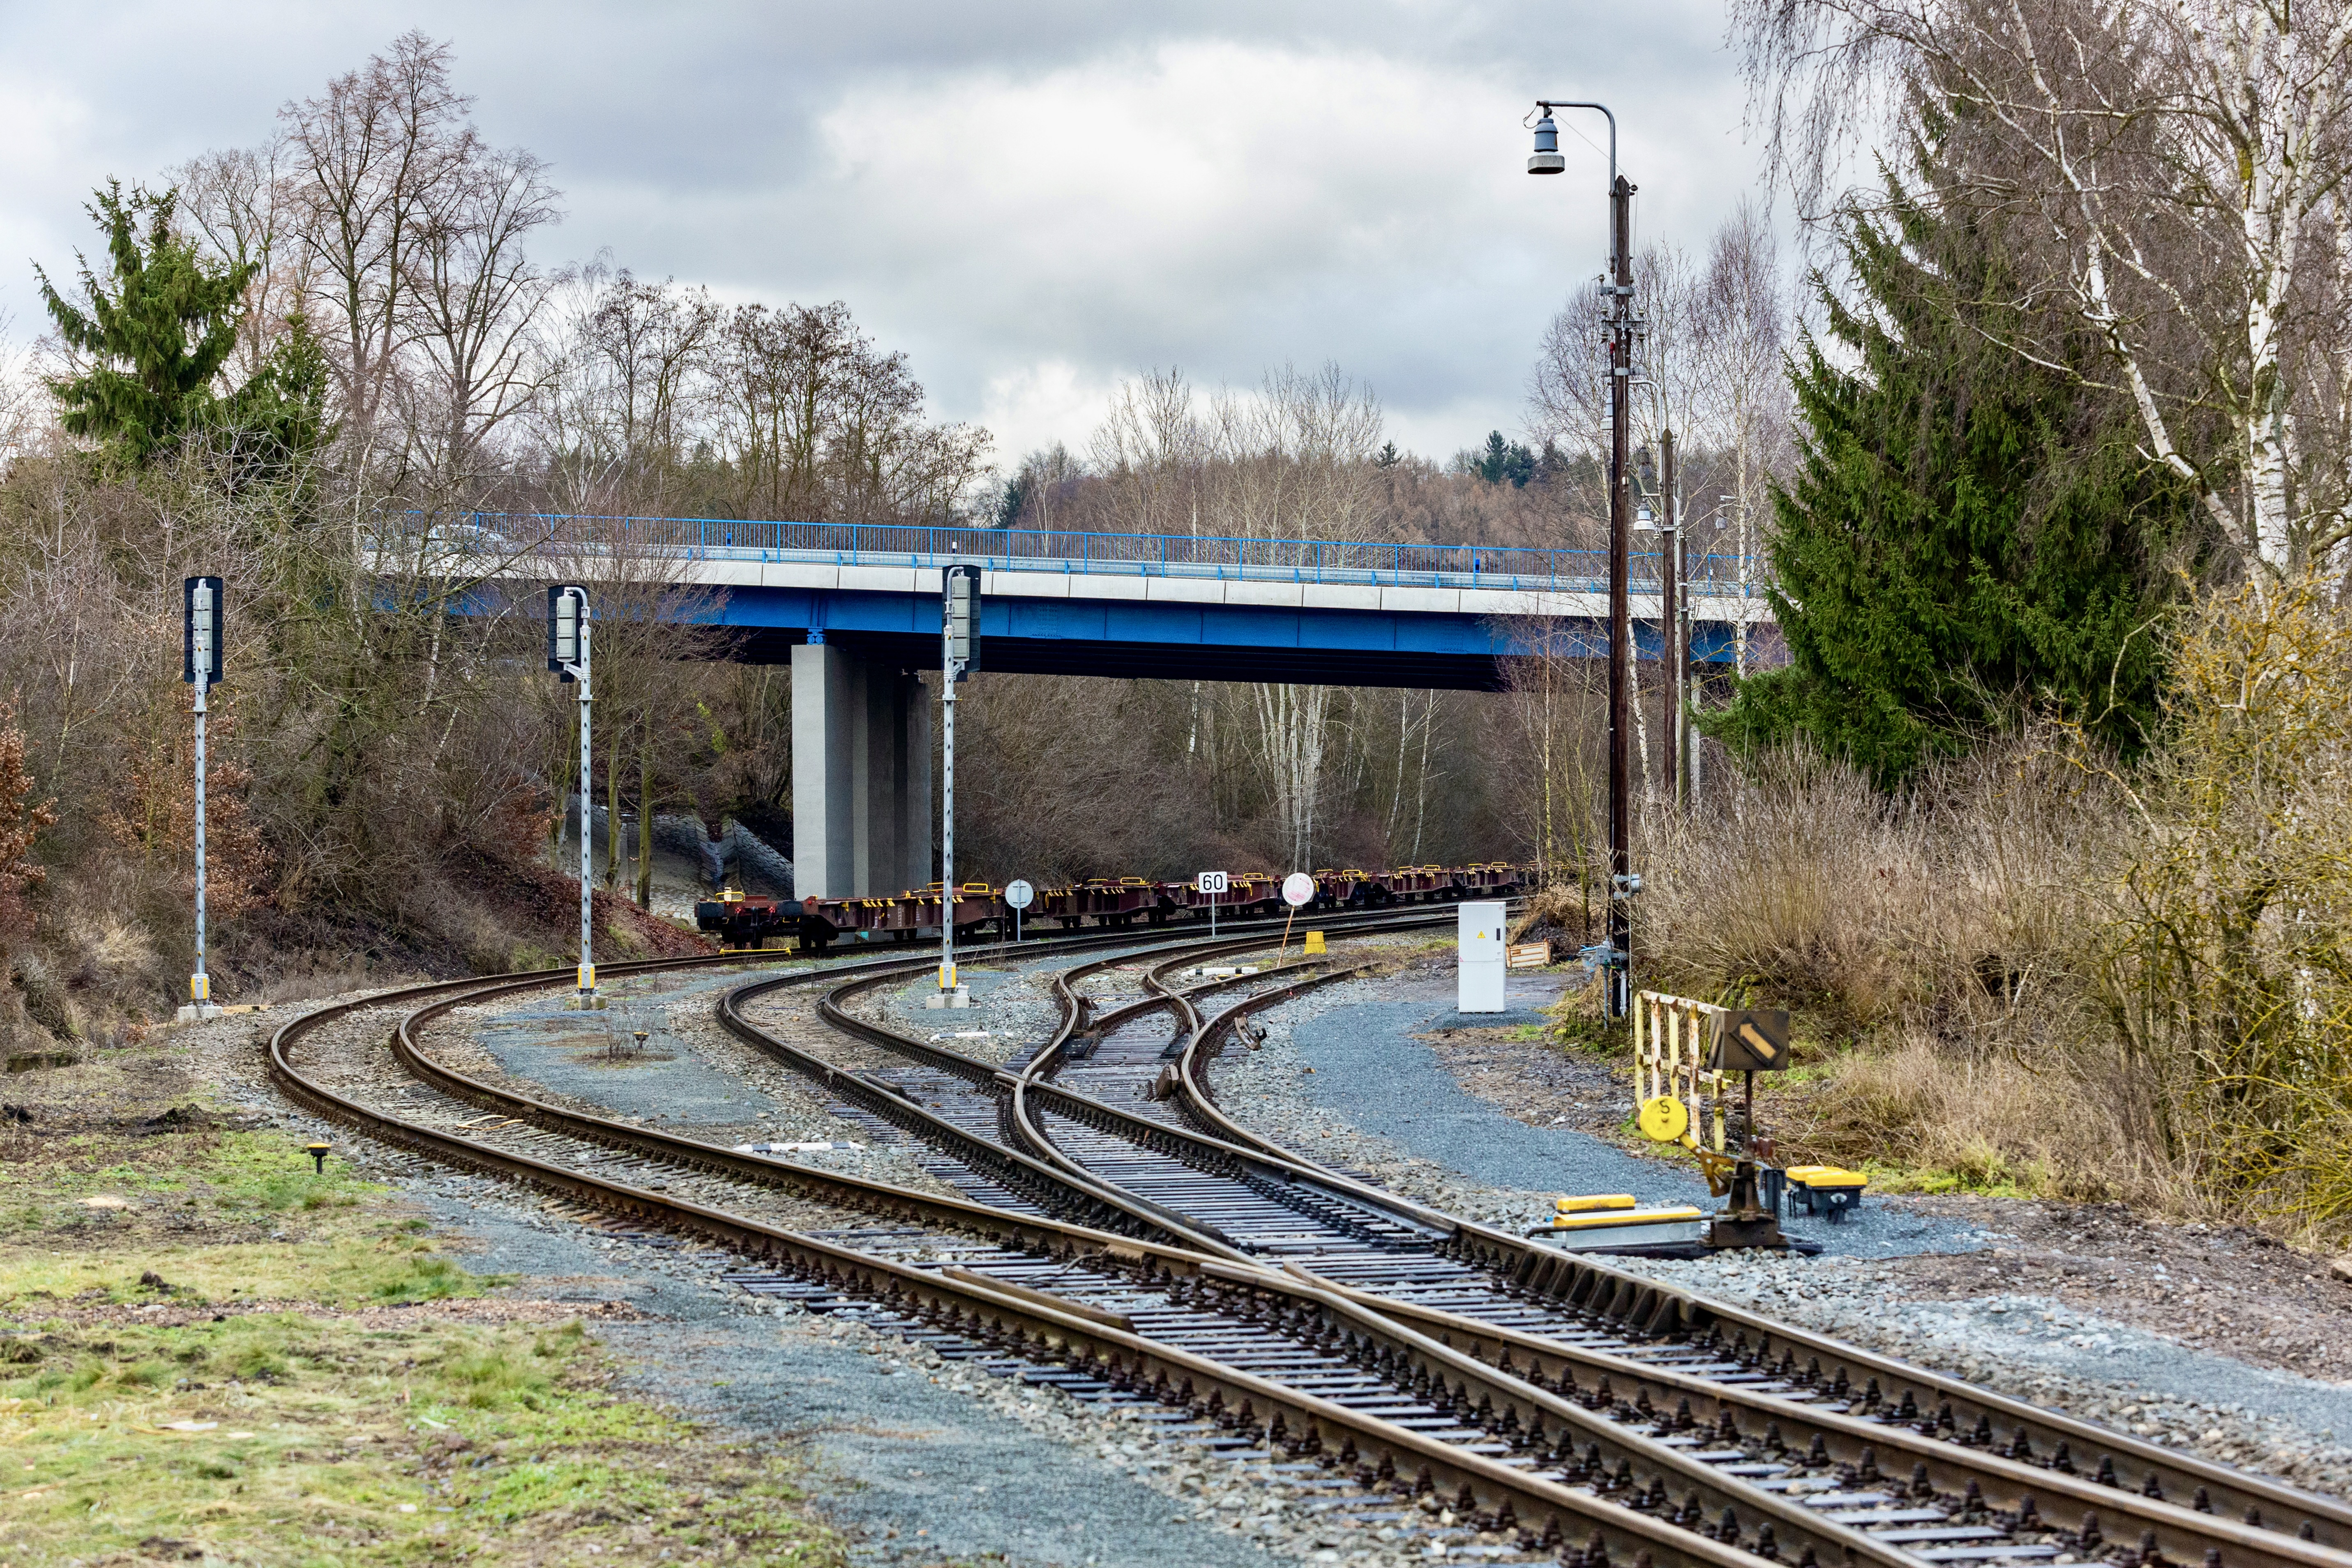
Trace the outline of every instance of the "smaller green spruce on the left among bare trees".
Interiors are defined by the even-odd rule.
[[[101,282],[80,259],[87,310],[33,268],[56,334],[85,360],[80,374],[49,383],[61,423],[132,465],[172,449],[219,407],[214,381],[235,348],[254,275],[254,263],[209,261],[176,235],[176,190],[125,197],[120,181],[96,193],[89,216],[106,230],[111,277]]]

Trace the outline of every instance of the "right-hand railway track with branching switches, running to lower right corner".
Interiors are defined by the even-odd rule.
[[[1061,976],[1063,1025],[1014,1074],[1009,1131],[1033,1152],[1054,1157],[1075,1182],[1124,1194],[1136,1215],[1195,1218],[1216,1241],[1240,1244],[1258,1260],[1291,1253],[1294,1272],[1618,1420],[1651,1425],[1656,1418],[1693,1443],[1712,1434],[1717,1448],[1705,1450],[1712,1462],[1764,1467],[1764,1486],[1851,1514],[1853,1523],[1915,1559],[2119,1554],[2180,1561],[2213,1554],[2230,1561],[2239,1552],[2286,1552],[2319,1561],[2340,1554],[2347,1516],[2331,1500],[1451,1220],[1247,1133],[1209,1091],[1214,1046],[1249,1013],[1329,976],[1265,990],[1214,1018],[1204,1018],[1197,1001],[1228,983],[1195,992],[1167,985],[1171,969],[1237,950],[1232,943],[1190,945],[1145,971],[1150,997],[1101,1018],[1089,1016],[1075,987],[1110,961]],[[828,1020],[847,1020],[863,1039],[889,1044],[889,1030],[840,1011],[840,992],[828,1001]],[[1178,1041],[1160,1044],[1143,1027],[1162,1009],[1190,1025]],[[1070,1051],[1073,1041],[1082,1048]],[[1061,1091],[1061,1105],[1040,1105],[1051,1095],[1040,1088],[1056,1072],[1131,1095],[1143,1072],[1171,1053],[1183,1117],[1223,1138],[1176,1126],[1164,1110],[1138,1112],[1131,1103],[1075,1088]],[[985,1088],[1004,1074],[962,1063],[943,1077]],[[1254,1197],[1275,1178],[1305,1190],[1312,1204],[1357,1201],[1359,1220],[1406,1225],[1374,1244],[1362,1225],[1338,1225],[1275,1237],[1272,1246],[1263,1229],[1237,1234],[1228,1227],[1235,1211],[1249,1213],[1244,1192]],[[1263,1211],[1251,1218],[1263,1222]],[[1411,1232],[1416,1220],[1418,1234]]]

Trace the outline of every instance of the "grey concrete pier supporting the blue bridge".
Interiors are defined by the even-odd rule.
[[[913,670],[793,644],[793,896],[931,882],[931,703]]]

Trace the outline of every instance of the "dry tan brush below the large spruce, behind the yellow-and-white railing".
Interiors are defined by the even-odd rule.
[[[1644,985],[1788,1006],[1816,1063],[1785,1152],[1969,1187],[2164,1197],[2093,987],[2093,856],[2124,802],[2063,743],[1987,748],[1886,797],[1811,752],[1651,823]]]

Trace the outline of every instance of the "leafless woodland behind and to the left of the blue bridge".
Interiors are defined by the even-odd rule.
[[[115,1027],[181,987],[198,571],[230,585],[212,910],[233,992],[327,954],[499,969],[546,940],[572,705],[527,602],[473,614],[517,545],[480,512],[1602,543],[1573,421],[1423,458],[1338,367],[1214,390],[1152,371],[1098,430],[995,454],[847,301],[550,261],[550,169],[482,136],[449,47],[416,33],[252,146],[101,183],[89,216],[89,249],[40,268],[47,336],[0,402],[0,943],[24,1027]],[[1762,473],[1778,437],[1740,440],[1689,449]],[[619,825],[649,839],[656,813],[788,853],[790,682],[663,625],[675,541],[524,543],[600,599],[602,884],[649,898]],[[1569,752],[1592,741],[1557,672],[1526,684],[1543,724],[1512,693],[981,675],[964,865],[1564,863],[1581,835],[1545,837],[1519,785],[1550,764],[1583,799]]]

